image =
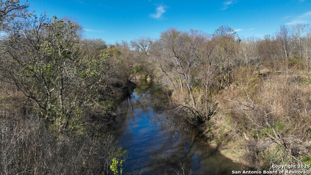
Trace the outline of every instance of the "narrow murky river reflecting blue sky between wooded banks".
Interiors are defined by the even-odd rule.
[[[150,89],[150,88],[149,88]],[[231,175],[241,164],[216,152],[197,128],[152,106],[154,95],[136,88],[119,105],[113,132],[128,150],[124,172],[142,175]]]

